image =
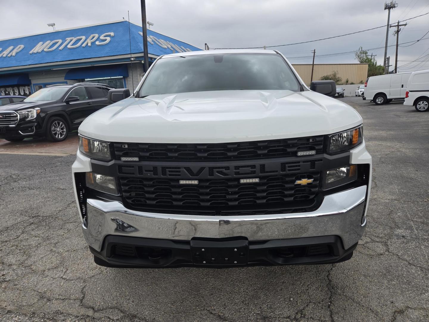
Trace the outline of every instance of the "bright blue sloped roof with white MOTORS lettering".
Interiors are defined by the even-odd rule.
[[[131,48],[130,48],[131,43]],[[148,52],[201,50],[177,39],[148,30]],[[47,64],[58,61],[112,57],[143,52],[141,27],[119,21],[0,41],[0,70],[5,67]]]

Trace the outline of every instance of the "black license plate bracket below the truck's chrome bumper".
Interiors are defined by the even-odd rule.
[[[190,251],[194,264],[243,265],[248,263],[249,241],[191,240]]]

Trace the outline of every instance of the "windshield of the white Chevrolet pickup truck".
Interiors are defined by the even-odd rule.
[[[291,90],[300,84],[278,54],[214,54],[158,60],[139,96],[196,91]]]

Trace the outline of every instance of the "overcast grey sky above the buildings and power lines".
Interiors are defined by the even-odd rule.
[[[2,0],[3,2],[4,0]],[[5,1],[6,2],[6,1]],[[397,0],[390,23],[429,12],[429,0]],[[127,19],[141,25],[139,0],[38,0],[7,1],[1,6],[0,39],[49,31],[46,24],[54,22],[57,29],[78,27]],[[204,48],[257,47],[352,33],[387,24],[384,0],[146,0],[148,21],[152,30],[191,45]],[[429,31],[429,15],[415,18],[402,27],[399,43],[417,40]],[[396,43],[393,28],[389,45]],[[384,47],[386,28],[313,43],[276,47],[287,57],[311,55],[316,49],[315,63],[354,63],[353,54],[317,57],[331,53]],[[424,38],[429,38],[429,33]],[[406,45],[402,45],[406,46]],[[371,50],[382,64],[384,48]],[[399,47],[399,63],[404,65],[429,54],[429,39]],[[395,47],[387,55],[394,65]],[[400,71],[429,68],[427,61],[408,64]],[[308,64],[311,59],[290,59],[292,64]],[[390,67],[393,69],[394,66]]]

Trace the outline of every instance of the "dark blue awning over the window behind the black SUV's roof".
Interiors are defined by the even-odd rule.
[[[73,68],[66,73],[64,79],[87,79],[104,77],[128,77],[126,64]]]

